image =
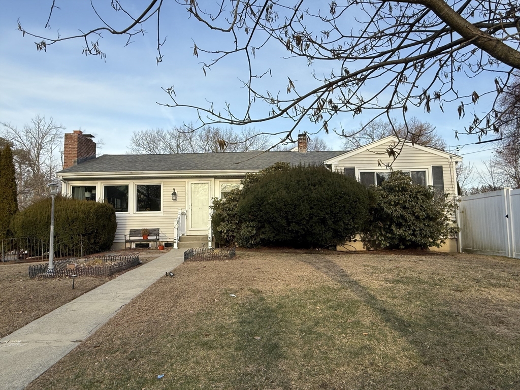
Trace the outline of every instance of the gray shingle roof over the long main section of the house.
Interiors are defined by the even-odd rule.
[[[106,154],[71,166],[59,173],[158,172],[158,171],[255,171],[276,162],[321,164],[345,153],[320,152],[233,152],[194,154]],[[216,172],[217,173],[217,172]]]

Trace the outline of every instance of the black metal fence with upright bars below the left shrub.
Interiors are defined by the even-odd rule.
[[[70,241],[70,240],[69,240]],[[84,250],[84,237],[78,235],[73,245],[60,242],[55,237],[54,257],[83,257],[89,255]],[[0,262],[38,262],[49,258],[49,242],[34,237],[6,238],[0,240]]]

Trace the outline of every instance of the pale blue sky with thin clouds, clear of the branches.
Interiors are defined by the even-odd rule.
[[[195,122],[196,112],[188,109],[162,107],[157,102],[168,102],[168,96],[161,87],[175,86],[177,97],[184,102],[206,105],[205,100],[214,101],[216,107],[223,107],[227,101],[240,110],[246,97],[241,89],[240,78],[245,77],[243,57],[235,56],[217,64],[207,76],[201,70],[200,62],[211,57],[199,58],[192,55],[193,41],[198,46],[212,47],[230,45],[229,35],[209,33],[203,25],[187,18],[186,7],[174,2],[166,3],[162,19],[162,31],[166,35],[163,46],[164,61],[157,65],[155,57],[157,37],[152,25],[147,25],[145,36],[136,36],[126,47],[125,37],[114,37],[104,33],[101,48],[107,53],[106,62],[99,58],[82,55],[80,40],[62,42],[47,48],[47,53],[35,49],[35,39],[23,37],[17,31],[17,19],[23,28],[42,34],[62,36],[75,34],[78,28],[88,30],[100,24],[88,1],[56,1],[60,9],[53,11],[50,29],[44,30],[51,0],[0,0],[0,120],[22,127],[36,114],[52,116],[62,123],[67,132],[83,129],[95,133],[105,141],[102,153],[125,153],[133,131],[149,128],[171,128],[184,122]],[[110,2],[95,1],[100,14],[113,19]],[[139,15],[145,2],[123,2],[134,15]],[[318,3],[315,3],[318,4]],[[116,21],[123,27],[124,21]],[[193,41],[192,41],[193,40]],[[312,86],[311,69],[303,60],[283,60],[287,52],[283,47],[268,46],[256,57],[258,69],[270,68],[272,78],[266,81],[267,88],[283,91],[287,84],[287,69],[298,88]],[[317,68],[318,72],[320,68]],[[323,69],[323,72],[329,70]],[[484,99],[483,99],[484,100]],[[485,101],[474,109],[484,111]],[[466,109],[466,116],[470,114]],[[426,114],[422,109],[413,112],[419,119],[432,123],[448,145],[464,145],[476,142],[474,137],[454,138],[454,130],[466,122],[458,119],[455,110],[451,114],[440,114],[432,110]],[[257,114],[265,112],[256,111]],[[345,129],[357,128],[363,116],[352,119],[345,114],[336,119],[336,125]],[[256,125],[259,131],[283,130],[287,121],[268,122]],[[285,127],[284,127],[285,126]],[[301,131],[315,132],[317,127],[305,122]],[[335,150],[341,149],[340,137],[319,134]],[[494,136],[488,136],[488,139]],[[276,141],[276,137],[273,138]],[[493,144],[467,145],[461,153],[465,161],[479,162],[489,159]]]

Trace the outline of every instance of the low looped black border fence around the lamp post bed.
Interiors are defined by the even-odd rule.
[[[138,255],[92,256],[86,257],[84,264],[68,267],[76,262],[77,258],[58,260],[54,262],[53,272],[48,271],[48,264],[32,265],[29,267],[29,277],[110,276],[141,263]]]

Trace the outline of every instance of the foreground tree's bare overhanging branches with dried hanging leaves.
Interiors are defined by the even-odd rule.
[[[46,37],[25,30],[20,22],[18,29],[24,36],[36,38],[37,50],[46,51],[64,40],[80,40],[84,44],[83,54],[103,59],[106,53],[101,50],[100,41],[105,36],[102,33],[124,36],[130,44],[138,35],[145,35],[145,29],[155,29],[153,39],[159,64],[167,44],[161,32],[165,25],[161,18],[178,12],[174,7],[183,6],[201,27],[219,34],[218,40],[193,44],[193,55],[202,57],[202,72],[208,73],[221,62],[243,63],[247,104],[239,112],[224,99],[216,103],[184,101],[171,86],[164,87],[168,98],[164,106],[193,109],[199,128],[217,123],[242,126],[288,119],[284,123],[291,123],[289,126],[266,133],[278,135],[280,144],[296,141],[298,126],[304,120],[328,133],[330,124],[339,123],[338,117],[344,114],[350,118],[370,112],[373,120],[386,118],[393,123],[395,112],[402,116],[400,121],[409,132],[406,116],[413,107],[428,113],[449,110],[458,114],[467,122],[455,136],[475,134],[480,140],[488,131],[499,132],[497,102],[511,86],[513,70],[520,69],[520,3],[510,0],[176,3],[149,0],[143,4],[142,12],[132,15],[119,0],[111,0],[118,16],[128,18],[122,29],[112,27],[112,22],[115,25],[116,19],[120,24],[121,18],[111,20],[103,15],[101,19],[96,3],[92,7],[99,25],[86,32]],[[53,2],[50,15],[42,15],[47,20],[45,27],[54,11],[59,12],[59,8]],[[287,50],[287,66],[269,67],[265,56],[255,61],[260,51],[269,52],[276,45]],[[297,82],[302,74],[299,59],[308,65],[312,82],[307,85]],[[264,79],[274,73],[283,75],[285,85],[265,91]],[[469,106],[476,105],[484,95],[494,102],[470,112]],[[223,141],[220,145],[225,146],[228,140]]]

